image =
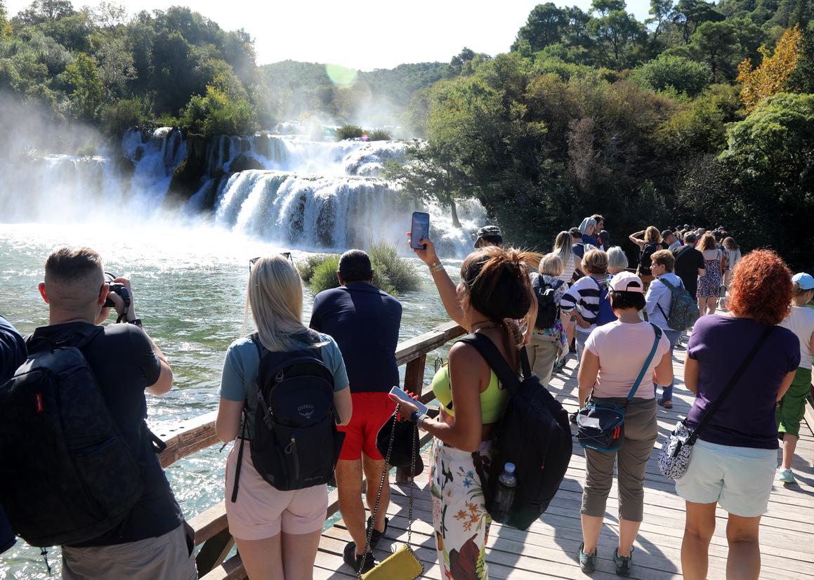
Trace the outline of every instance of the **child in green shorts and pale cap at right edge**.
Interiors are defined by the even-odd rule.
[[[791,460],[800,434],[800,421],[806,411],[806,397],[812,388],[812,349],[814,349],[814,310],[807,303],[814,298],[814,277],[794,274],[791,312],[780,323],[797,335],[800,341],[800,366],[786,395],[777,405],[777,432],[783,438],[783,462],[777,468],[777,481],[794,483]]]

